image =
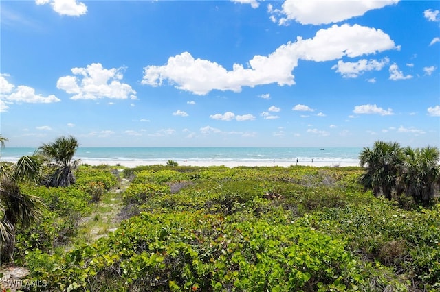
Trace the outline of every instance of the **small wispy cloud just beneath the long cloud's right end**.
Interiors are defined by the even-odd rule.
[[[388,58],[383,58],[380,61],[362,59],[358,62],[339,60],[338,64],[331,67],[331,69],[336,69],[336,72],[341,73],[342,77],[355,78],[367,71],[380,71],[388,62],[390,62]]]

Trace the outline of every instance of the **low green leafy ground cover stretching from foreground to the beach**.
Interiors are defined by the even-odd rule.
[[[78,185],[61,193],[32,188],[50,208],[44,231],[23,236],[38,238],[19,247],[29,279],[46,283],[34,290],[440,289],[438,201],[422,208],[376,198],[360,186],[358,167],[125,169],[131,181],[119,194],[119,228],[56,252],[63,218],[74,212],[99,221],[105,210],[89,202],[118,184],[111,171],[80,171],[87,174],[77,175]]]

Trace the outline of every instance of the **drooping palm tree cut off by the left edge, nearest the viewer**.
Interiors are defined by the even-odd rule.
[[[0,136],[0,146],[7,138]],[[0,162],[0,258],[12,260],[17,226],[29,227],[41,216],[41,199],[21,193],[19,183],[38,183],[41,158],[23,156],[15,164]]]

